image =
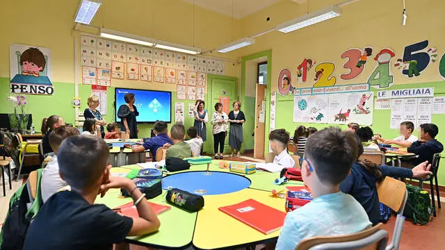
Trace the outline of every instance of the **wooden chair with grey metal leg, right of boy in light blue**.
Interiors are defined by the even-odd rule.
[[[406,201],[408,199],[406,185],[402,181],[386,176],[383,181],[377,183],[377,193],[378,200],[397,213],[391,242],[386,249],[398,250],[398,245],[400,244],[402,237],[403,224],[405,223],[403,210],[405,210]]]

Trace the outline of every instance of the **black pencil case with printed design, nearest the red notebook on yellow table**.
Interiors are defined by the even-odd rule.
[[[177,188],[168,190],[165,199],[173,206],[182,208],[188,212],[197,212],[201,208],[204,208],[204,197]]]

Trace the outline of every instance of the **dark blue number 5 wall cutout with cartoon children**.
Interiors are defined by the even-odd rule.
[[[394,67],[408,78],[420,76],[428,65],[437,60],[437,49],[428,48],[428,40],[407,45],[403,52],[403,58],[398,58]]]

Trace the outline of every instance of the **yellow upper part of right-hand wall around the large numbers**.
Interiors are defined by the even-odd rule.
[[[309,10],[318,10],[339,3],[340,1],[318,0],[310,1]],[[396,52],[396,58],[403,56],[406,45],[423,40],[430,40],[430,47],[439,50],[439,56],[445,51],[444,34],[445,25],[443,10],[445,1],[410,1],[407,3],[407,25],[401,26],[402,1],[362,0],[343,6],[340,17],[327,20],[291,33],[273,31],[257,38],[257,42],[241,49],[243,56],[273,50],[272,90],[277,90],[277,76],[281,69],[289,68],[293,74],[296,67],[304,58],[312,58],[316,62],[331,61],[336,64],[334,75],[337,76],[337,85],[366,83],[374,69],[373,56],[357,78],[343,81],[340,74],[346,73],[343,69],[346,59],[341,53],[347,49],[366,46],[373,47],[373,55],[383,47],[389,47]],[[264,10],[245,17],[241,20],[242,35],[252,35],[260,31],[273,28],[277,24],[305,15],[307,5],[298,5],[292,1],[280,1]],[[270,22],[266,22],[270,17]],[[393,62],[396,60],[393,58]],[[407,78],[396,68],[392,67],[395,84],[425,83],[440,81],[438,73],[439,62],[429,65],[419,78]],[[314,84],[314,69],[309,71],[309,80],[312,81],[302,88],[312,87]],[[293,81],[295,83],[295,81]]]

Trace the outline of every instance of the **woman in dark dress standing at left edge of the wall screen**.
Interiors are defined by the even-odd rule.
[[[127,139],[138,139],[138,123],[136,117],[139,115],[138,109],[134,106],[136,99],[133,93],[125,94],[125,102],[127,104],[121,105],[118,110],[118,117],[120,118],[120,130],[126,133]]]

